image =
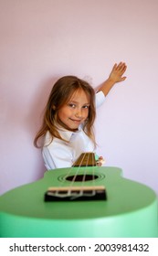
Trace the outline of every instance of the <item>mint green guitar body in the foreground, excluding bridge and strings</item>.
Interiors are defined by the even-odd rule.
[[[106,187],[108,200],[44,202],[47,187],[61,186],[68,169],[49,171],[0,197],[0,237],[157,237],[157,197],[150,187],[123,178],[120,168],[86,170],[98,175],[95,184]]]

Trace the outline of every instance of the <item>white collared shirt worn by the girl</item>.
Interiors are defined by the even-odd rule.
[[[96,107],[99,107],[105,101],[102,91],[96,93]],[[95,145],[90,137],[84,133],[81,127],[78,132],[71,132],[65,129],[58,130],[59,134],[67,142],[53,138],[47,132],[45,137],[45,146],[42,149],[42,155],[47,170],[70,167],[83,152],[94,152]]]

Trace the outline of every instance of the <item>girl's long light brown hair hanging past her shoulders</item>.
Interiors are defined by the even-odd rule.
[[[89,116],[87,122],[83,125],[83,131],[92,139],[95,144],[95,137],[93,133],[93,123],[96,117],[95,111],[95,91],[90,86],[90,84],[85,80],[80,80],[75,76],[65,76],[60,78],[53,86],[52,91],[50,92],[47,105],[45,108],[43,124],[38,131],[34,145],[36,147],[41,147],[43,145],[38,145],[37,141],[44,137],[49,131],[52,135],[52,140],[54,137],[63,140],[63,138],[58,133],[57,123],[60,124],[58,119],[58,110],[66,104],[73,93],[78,90],[83,90],[88,97],[90,98],[90,108]],[[63,123],[62,123],[63,126]],[[68,127],[65,127],[68,129]],[[69,129],[68,129],[69,130]]]

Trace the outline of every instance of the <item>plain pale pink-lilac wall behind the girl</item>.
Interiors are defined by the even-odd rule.
[[[60,76],[94,87],[128,64],[96,121],[106,165],[158,193],[158,1],[0,1],[0,193],[43,176],[32,142]]]

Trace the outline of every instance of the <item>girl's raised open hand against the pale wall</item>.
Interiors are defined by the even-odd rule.
[[[126,69],[127,69],[127,66],[124,62],[120,62],[119,64],[115,63],[111,70],[111,74],[108,80],[111,80],[112,83],[125,80],[126,77],[123,77],[123,74],[126,71]]]

